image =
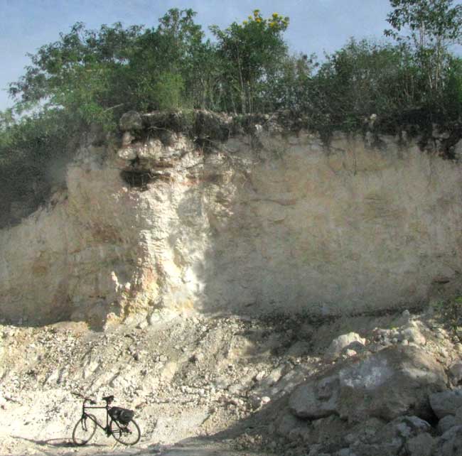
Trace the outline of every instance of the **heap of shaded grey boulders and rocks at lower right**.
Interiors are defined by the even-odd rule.
[[[297,386],[274,421],[294,447],[286,454],[461,454],[460,340],[409,312],[402,320],[333,340],[325,357],[333,364]]]

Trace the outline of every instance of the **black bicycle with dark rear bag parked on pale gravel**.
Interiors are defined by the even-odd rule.
[[[106,402],[104,407],[95,407],[96,402],[91,398],[82,396],[80,393],[72,394],[83,399],[82,418],[77,421],[72,431],[72,441],[75,445],[82,446],[90,442],[90,439],[95,435],[97,427],[101,428],[107,437],[112,435],[117,442],[123,445],[135,445],[139,442],[141,431],[139,430],[139,425],[133,419],[134,412],[126,408],[111,407],[110,405],[114,401],[114,396],[102,398]],[[90,406],[85,405],[87,402],[90,402]],[[106,410],[105,426],[100,424],[94,415],[86,412],[89,408],[104,408]]]

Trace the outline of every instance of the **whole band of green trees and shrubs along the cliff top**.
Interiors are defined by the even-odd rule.
[[[279,13],[264,18],[255,10],[242,23],[212,26],[213,41],[190,9],[171,9],[152,28],[116,23],[94,31],[76,23],[30,55],[10,85],[16,104],[0,114],[0,190],[7,195],[0,210],[24,199],[24,176],[29,192],[40,193],[34,189],[56,175],[50,163],[68,154],[68,137],[90,124],[116,129],[131,109],[288,109],[320,130],[358,129],[372,114],[389,126],[460,121],[462,60],[451,46],[460,43],[462,6],[390,4],[387,41],[352,38],[322,62],[291,55],[289,18]]]

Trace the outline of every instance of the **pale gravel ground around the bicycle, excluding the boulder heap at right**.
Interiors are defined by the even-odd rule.
[[[268,427],[287,393],[331,366],[324,354],[335,337],[355,330],[367,343],[392,344],[400,317],[319,321],[158,310],[100,332],[83,322],[0,325],[0,455],[289,454]],[[429,318],[426,347],[447,366],[460,358],[461,344]],[[114,445],[100,432],[91,445],[73,447],[81,408],[75,391],[100,404],[113,394],[114,405],[133,409],[140,443]],[[103,419],[101,412],[95,414]]]

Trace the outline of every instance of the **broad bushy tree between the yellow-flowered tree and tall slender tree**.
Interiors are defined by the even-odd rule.
[[[323,129],[355,130],[372,114],[393,124],[421,106],[423,93],[406,46],[352,38],[311,78],[306,110]]]

